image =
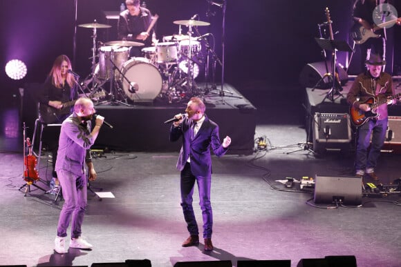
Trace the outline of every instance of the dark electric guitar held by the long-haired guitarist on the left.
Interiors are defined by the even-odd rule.
[[[89,98],[91,100],[93,100],[93,99],[98,99],[98,98],[102,98],[105,96],[106,96],[106,93],[104,92],[104,90],[102,90],[100,92],[95,92],[95,93],[89,95]],[[71,106],[73,106],[75,104],[75,101],[77,101],[77,99],[62,103],[63,108],[61,110],[57,110],[57,108],[53,108],[53,107],[47,106],[47,105],[40,105],[39,106],[39,118],[40,118],[41,122],[62,123],[62,121],[60,121],[59,118],[71,113]]]

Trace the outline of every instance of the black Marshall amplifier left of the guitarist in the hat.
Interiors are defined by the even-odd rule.
[[[351,124],[347,113],[319,113],[313,117],[313,150],[348,150]]]

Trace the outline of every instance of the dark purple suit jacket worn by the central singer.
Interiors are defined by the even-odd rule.
[[[183,146],[177,161],[177,169],[183,170],[188,157],[191,157],[191,170],[195,176],[209,176],[212,174],[212,157],[210,148],[214,155],[221,157],[227,152],[228,148],[221,146],[218,134],[218,125],[207,118],[203,121],[196,137],[191,141],[190,123],[191,119],[185,117],[183,123],[178,127],[171,126],[170,141],[177,141],[183,137]]]

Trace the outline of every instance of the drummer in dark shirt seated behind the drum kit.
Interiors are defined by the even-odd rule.
[[[140,0],[125,0],[127,10],[120,13],[118,19],[118,38],[124,41],[144,43],[142,47],[131,47],[130,57],[142,57],[141,49],[157,43],[152,29],[147,32],[152,21],[151,12],[140,6]]]

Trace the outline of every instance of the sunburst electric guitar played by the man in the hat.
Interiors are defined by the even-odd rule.
[[[396,99],[401,97],[401,92],[397,95],[393,95],[391,99]],[[360,110],[359,108],[355,108],[354,106],[351,106],[350,108],[350,117],[351,121],[354,126],[359,127],[362,126],[366,121],[369,121],[369,119],[373,119],[377,116],[379,116],[378,113],[375,111],[379,106],[382,106],[387,103],[388,99],[384,99],[382,101],[377,101],[375,103],[375,98],[371,97],[370,99],[366,100],[364,103],[368,104],[371,107],[371,110],[364,112],[363,110]]]

